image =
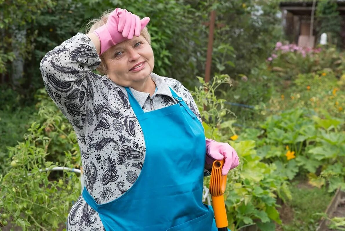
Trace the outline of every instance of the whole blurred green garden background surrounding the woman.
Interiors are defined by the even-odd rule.
[[[150,17],[154,72],[181,81],[206,136],[237,150],[225,193],[231,230],[345,230],[345,1],[0,6],[0,230],[66,229],[81,191],[80,152],[39,64],[116,7]]]

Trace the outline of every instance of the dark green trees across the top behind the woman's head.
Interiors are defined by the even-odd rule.
[[[0,49],[0,72],[11,71],[8,68],[14,58],[11,43],[18,33],[7,27],[11,24],[25,34],[26,40],[17,50],[25,61],[23,82],[35,89],[43,86],[37,67],[45,53],[78,31],[85,31],[89,19],[116,7],[151,18],[148,29],[156,57],[154,71],[186,86],[194,86],[193,77],[205,72],[207,23],[212,9],[217,12],[212,73],[248,74],[281,37],[278,1],[40,0],[20,1],[19,9],[12,1],[2,1],[6,6],[3,21],[7,24],[0,24],[0,28],[6,27]],[[11,19],[11,12],[18,17]]]

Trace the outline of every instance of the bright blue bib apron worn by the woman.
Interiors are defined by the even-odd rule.
[[[126,88],[146,144],[135,183],[114,201],[97,204],[106,231],[216,231],[212,207],[202,203],[205,135],[198,118],[170,88],[177,104],[144,113]]]

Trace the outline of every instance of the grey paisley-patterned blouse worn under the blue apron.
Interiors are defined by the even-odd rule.
[[[94,44],[79,32],[49,51],[40,70],[49,96],[76,131],[85,186],[102,204],[121,197],[136,181],[145,163],[146,147],[125,88],[93,73],[99,64]],[[145,112],[175,104],[170,87],[201,122],[193,97],[179,81],[154,73],[151,78],[157,86],[152,97],[131,88]],[[207,170],[205,175],[209,175]],[[82,196],[68,214],[67,230],[104,230],[98,213]]]

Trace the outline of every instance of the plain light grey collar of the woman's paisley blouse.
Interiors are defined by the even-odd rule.
[[[175,99],[172,97],[172,94],[167,82],[164,80],[164,77],[161,77],[158,74],[155,74],[153,72],[151,73],[150,76],[157,86],[157,91],[152,95],[152,98],[155,97],[156,95],[165,95],[165,96],[169,96],[172,100],[175,101]],[[150,94],[147,92],[134,90],[131,87],[129,87],[129,89],[132,92],[134,98],[138,101],[140,107],[143,107],[145,101],[150,96]]]

